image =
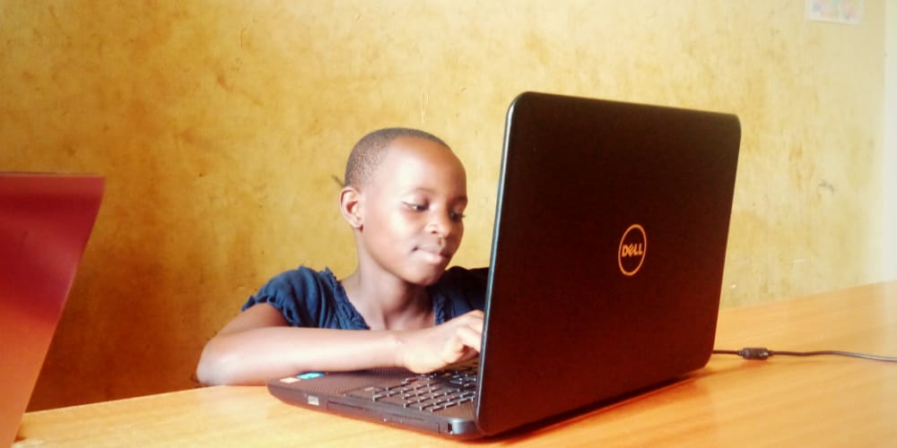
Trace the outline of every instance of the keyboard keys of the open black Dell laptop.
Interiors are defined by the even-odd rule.
[[[370,385],[347,395],[435,412],[476,399],[476,364]]]

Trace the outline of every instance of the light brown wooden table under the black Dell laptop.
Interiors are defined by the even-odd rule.
[[[717,348],[897,355],[897,281],[722,310]],[[460,444],[295,408],[264,387],[210,387],[25,415],[15,446]],[[474,444],[897,446],[897,363],[717,355],[682,381]]]

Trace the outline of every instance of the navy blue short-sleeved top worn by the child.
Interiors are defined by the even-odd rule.
[[[488,268],[467,270],[455,266],[427,287],[433,302],[434,323],[439,325],[468,311],[482,310],[488,274]],[[249,297],[243,311],[256,304],[274,306],[294,327],[370,329],[329,268],[314,271],[300,266],[285,271]]]

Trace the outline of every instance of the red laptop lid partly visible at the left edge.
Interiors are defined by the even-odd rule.
[[[0,172],[0,445],[15,441],[103,187],[102,177]]]

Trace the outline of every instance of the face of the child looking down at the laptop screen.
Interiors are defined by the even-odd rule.
[[[387,151],[361,191],[361,251],[401,280],[431,285],[464,235],[464,167],[448,148],[420,138],[396,139]]]

